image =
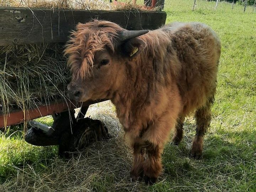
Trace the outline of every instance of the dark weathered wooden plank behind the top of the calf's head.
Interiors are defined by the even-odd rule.
[[[166,13],[0,7],[0,46],[65,42],[78,22],[95,18],[115,22],[128,30],[142,30],[164,25]]]

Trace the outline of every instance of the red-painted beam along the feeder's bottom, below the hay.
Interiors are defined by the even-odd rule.
[[[100,101],[88,101],[88,102],[75,102],[75,101],[66,101],[63,100],[51,102],[49,104],[38,106],[37,108],[31,108],[27,111],[17,110],[12,111],[10,114],[4,115],[0,113],[0,128],[7,127],[10,125],[15,125],[22,123],[24,121],[36,119],[39,117],[44,117],[54,113],[60,113],[63,111],[72,110],[82,106],[88,106],[94,103],[102,102]]]

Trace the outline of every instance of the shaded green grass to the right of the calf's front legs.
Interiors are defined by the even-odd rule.
[[[207,133],[201,160],[188,158],[195,124],[185,123],[185,138],[179,146],[168,143],[162,162],[160,183],[151,188],[161,191],[250,191],[255,188],[256,145],[238,131]],[[255,135],[256,136],[256,135]],[[179,186],[179,187],[177,187]]]

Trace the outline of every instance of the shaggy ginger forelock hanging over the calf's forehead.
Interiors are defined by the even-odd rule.
[[[73,79],[84,79],[91,75],[95,53],[106,47],[114,52],[113,39],[121,31],[120,26],[107,21],[79,23],[64,50],[64,54],[69,55],[68,66]]]

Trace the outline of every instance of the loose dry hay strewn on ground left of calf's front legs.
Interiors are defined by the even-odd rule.
[[[70,191],[145,191],[143,182],[131,182],[132,150],[124,140],[124,132],[110,101],[92,105],[88,115],[104,122],[110,140],[96,142],[74,153],[70,160],[53,158],[44,166],[26,163],[18,167],[17,176],[6,180],[0,191],[70,192]]]

